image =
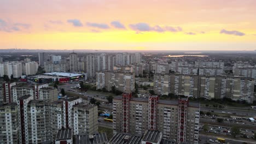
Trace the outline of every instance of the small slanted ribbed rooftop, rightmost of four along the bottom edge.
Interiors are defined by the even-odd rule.
[[[146,134],[142,137],[143,141],[157,143],[161,139],[161,132],[157,130],[147,130]]]

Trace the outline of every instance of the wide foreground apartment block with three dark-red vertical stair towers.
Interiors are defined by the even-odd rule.
[[[163,139],[198,143],[200,105],[188,99],[160,100],[158,96],[132,98],[131,94],[113,99],[113,132],[143,134],[158,130]]]

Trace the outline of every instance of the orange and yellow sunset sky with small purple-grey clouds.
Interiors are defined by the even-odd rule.
[[[0,49],[256,50],[255,0],[0,0]]]

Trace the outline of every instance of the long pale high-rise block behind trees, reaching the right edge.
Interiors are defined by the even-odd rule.
[[[185,95],[194,98],[245,100],[253,103],[254,79],[236,76],[155,74],[156,94]]]

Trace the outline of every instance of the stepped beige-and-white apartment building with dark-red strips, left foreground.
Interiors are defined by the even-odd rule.
[[[74,134],[92,134],[98,130],[96,105],[78,97],[53,101],[33,100],[24,95],[18,101],[20,143],[53,142],[61,128],[72,128]]]

